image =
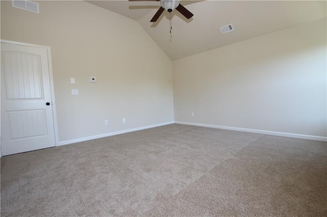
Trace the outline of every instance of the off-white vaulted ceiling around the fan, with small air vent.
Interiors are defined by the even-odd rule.
[[[159,2],[87,1],[136,20],[171,60],[236,43],[326,17],[326,1],[180,1],[194,16],[187,20],[172,12],[150,20]],[[222,35],[220,26],[235,31]]]

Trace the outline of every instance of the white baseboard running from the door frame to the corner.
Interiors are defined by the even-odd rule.
[[[78,142],[84,142],[84,141],[88,141],[88,140],[95,140],[95,139],[99,139],[99,138],[103,138],[103,137],[110,137],[111,135],[118,135],[118,134],[123,134],[126,132],[133,132],[133,131],[142,130],[142,129],[149,129],[149,128],[164,126],[164,125],[173,124],[173,123],[175,123],[175,122],[170,121],[170,122],[166,122],[166,123],[160,123],[160,124],[154,124],[154,125],[148,125],[148,126],[143,126],[143,127],[121,130],[121,131],[109,132],[109,133],[100,134],[100,135],[92,135],[91,137],[84,137],[84,138],[79,138],[79,139],[75,139],[75,140],[62,141],[62,142],[59,142],[57,144],[57,146],[68,145],[68,144],[78,143]]]

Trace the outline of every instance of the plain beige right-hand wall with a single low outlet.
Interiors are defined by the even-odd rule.
[[[175,121],[326,137],[326,19],[174,61],[173,81]]]

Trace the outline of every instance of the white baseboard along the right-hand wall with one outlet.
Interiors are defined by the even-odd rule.
[[[316,135],[303,135],[303,134],[295,134],[295,133],[287,133],[287,132],[275,132],[275,131],[267,131],[267,130],[259,130],[259,129],[247,129],[247,128],[239,128],[239,127],[228,127],[228,126],[219,126],[212,124],[198,124],[198,123],[190,123],[190,122],[182,122],[175,121],[176,124],[185,124],[185,125],[193,125],[193,126],[202,126],[202,127],[211,127],[218,129],[229,129],[235,131],[243,131],[243,132],[254,132],[268,135],[278,135],[280,137],[291,137],[298,139],[306,139],[306,140],[317,140],[327,142],[327,137],[317,137]]]

